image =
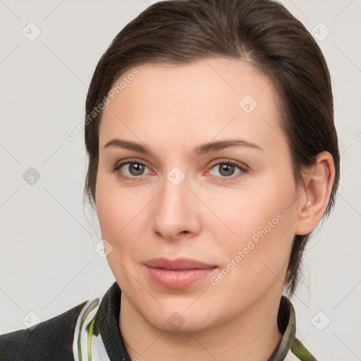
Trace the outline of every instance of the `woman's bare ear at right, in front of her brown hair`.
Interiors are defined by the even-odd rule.
[[[331,154],[317,154],[314,164],[303,174],[303,179],[305,189],[299,199],[296,235],[312,232],[326,210],[335,179],[334,158]]]

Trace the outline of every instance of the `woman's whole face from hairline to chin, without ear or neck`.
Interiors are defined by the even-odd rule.
[[[104,108],[96,187],[126,302],[169,331],[279,302],[300,206],[269,78],[224,58],[136,69]]]

